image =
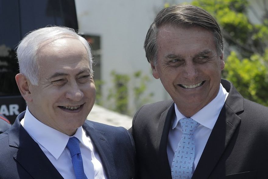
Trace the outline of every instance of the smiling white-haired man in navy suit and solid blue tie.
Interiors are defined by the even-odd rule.
[[[129,132],[86,120],[96,97],[88,42],[45,27],[24,37],[17,56],[27,108],[0,135],[0,178],[134,178]]]

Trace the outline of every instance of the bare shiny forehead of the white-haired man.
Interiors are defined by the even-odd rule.
[[[86,48],[80,40],[62,38],[45,45],[38,57],[41,74],[76,74],[81,69],[90,71]]]

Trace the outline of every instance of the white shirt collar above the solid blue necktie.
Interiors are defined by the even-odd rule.
[[[28,107],[23,120],[21,121],[24,129],[30,134],[30,136],[46,150],[48,150],[56,160],[60,157],[65,149],[70,137],[75,136],[83,144],[82,136],[86,135],[82,129],[82,126],[76,130],[73,136],[68,136],[56,129],[53,129],[44,123],[37,120],[29,111]]]

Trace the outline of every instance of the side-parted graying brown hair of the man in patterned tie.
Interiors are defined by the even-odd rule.
[[[166,24],[177,27],[200,26],[210,30],[214,35],[218,55],[223,53],[224,43],[220,27],[212,15],[194,5],[172,5],[158,12],[146,34],[144,42],[146,58],[149,63],[153,61],[154,66],[157,65],[158,29]]]

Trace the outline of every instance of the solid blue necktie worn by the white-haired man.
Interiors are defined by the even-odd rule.
[[[79,140],[76,137],[69,138],[69,141],[66,146],[72,157],[72,166],[76,179],[87,179],[84,172],[82,155],[79,147]]]

